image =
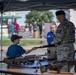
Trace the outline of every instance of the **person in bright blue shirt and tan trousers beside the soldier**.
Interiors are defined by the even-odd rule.
[[[52,23],[51,27],[50,27],[50,32],[47,33],[47,43],[48,43],[48,45],[50,45],[51,42],[53,42],[53,36],[55,35],[56,29],[57,29],[56,24]],[[48,47],[47,48],[47,54],[48,54],[49,59],[57,58],[56,47]]]

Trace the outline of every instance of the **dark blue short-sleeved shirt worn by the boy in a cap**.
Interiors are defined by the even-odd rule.
[[[6,55],[9,58],[15,58],[15,57],[20,57],[22,54],[24,54],[26,51],[19,45],[13,44],[9,46]]]

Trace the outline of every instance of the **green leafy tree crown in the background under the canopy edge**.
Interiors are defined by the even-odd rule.
[[[33,23],[37,21],[37,23],[42,22],[52,22],[53,21],[53,13],[51,11],[36,11],[33,10],[26,15],[26,23]]]

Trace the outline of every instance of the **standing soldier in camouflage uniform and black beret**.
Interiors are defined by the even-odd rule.
[[[74,24],[68,21],[65,17],[65,12],[59,10],[56,12],[57,19],[60,25],[57,28],[56,34],[53,37],[53,42],[57,46],[57,60],[73,59],[75,42],[75,27]],[[71,68],[71,67],[70,67]],[[68,71],[67,63],[63,63],[61,71]]]

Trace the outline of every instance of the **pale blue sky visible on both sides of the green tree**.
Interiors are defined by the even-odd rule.
[[[53,12],[54,16],[55,16],[55,12],[56,10],[50,10]],[[25,26],[25,15],[27,15],[30,11],[20,11],[22,13],[22,18],[19,18],[17,19],[17,23],[20,25],[20,26]],[[56,21],[56,17],[54,17],[53,19],[54,21]]]

